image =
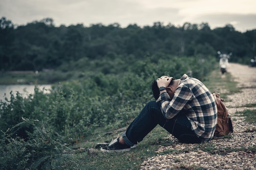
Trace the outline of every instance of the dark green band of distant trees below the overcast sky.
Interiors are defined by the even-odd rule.
[[[164,55],[218,57],[217,51],[232,52],[233,62],[249,62],[256,55],[256,29],[241,33],[231,24],[211,29],[207,23],[188,22],[180,27],[162,22],[126,28],[118,23],[57,27],[51,18],[16,26],[0,19],[0,71],[58,69],[80,60],[129,63]]]

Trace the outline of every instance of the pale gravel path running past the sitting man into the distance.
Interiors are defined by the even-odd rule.
[[[247,150],[256,145],[256,124],[249,124],[245,122],[244,117],[235,114],[245,109],[256,109],[243,107],[245,104],[256,103],[256,68],[230,63],[227,71],[242,88],[241,93],[228,96],[231,102],[225,102],[234,120],[233,137],[213,139],[207,144],[181,144],[170,135],[166,137],[166,140],[170,140],[173,144],[160,146],[157,151],[159,155],[141,163],[141,170],[256,169],[256,153]],[[222,78],[225,78],[225,75]],[[209,152],[206,151],[206,147],[211,148]],[[214,152],[214,147],[216,147],[216,152]],[[165,150],[172,154],[161,154]],[[223,150],[224,152],[228,150],[228,154],[222,155]]]

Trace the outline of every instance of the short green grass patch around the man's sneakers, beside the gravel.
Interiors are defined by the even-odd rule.
[[[103,134],[101,134],[104,136]],[[121,134],[119,134],[121,135]],[[105,153],[96,149],[95,153],[88,153],[88,148],[94,148],[97,142],[105,140],[110,141],[118,136],[102,137],[94,135],[90,141],[86,143],[76,144],[77,147],[85,148],[85,152],[76,152],[67,165],[69,169],[86,169],[86,170],[137,170],[140,164],[148,157],[156,156],[159,146],[171,145],[171,141],[163,138],[168,136],[168,132],[162,127],[157,126],[153,129],[139,145],[130,152],[124,153]]]

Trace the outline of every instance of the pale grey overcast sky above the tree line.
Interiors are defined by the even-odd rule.
[[[256,0],[0,0],[0,17],[17,25],[52,18],[55,26],[207,22],[245,32],[256,29]]]

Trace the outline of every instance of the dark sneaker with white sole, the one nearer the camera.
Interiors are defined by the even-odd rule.
[[[104,146],[101,148],[103,152],[125,152],[131,150],[131,147],[126,144],[119,143],[119,137],[112,142],[108,146]]]

